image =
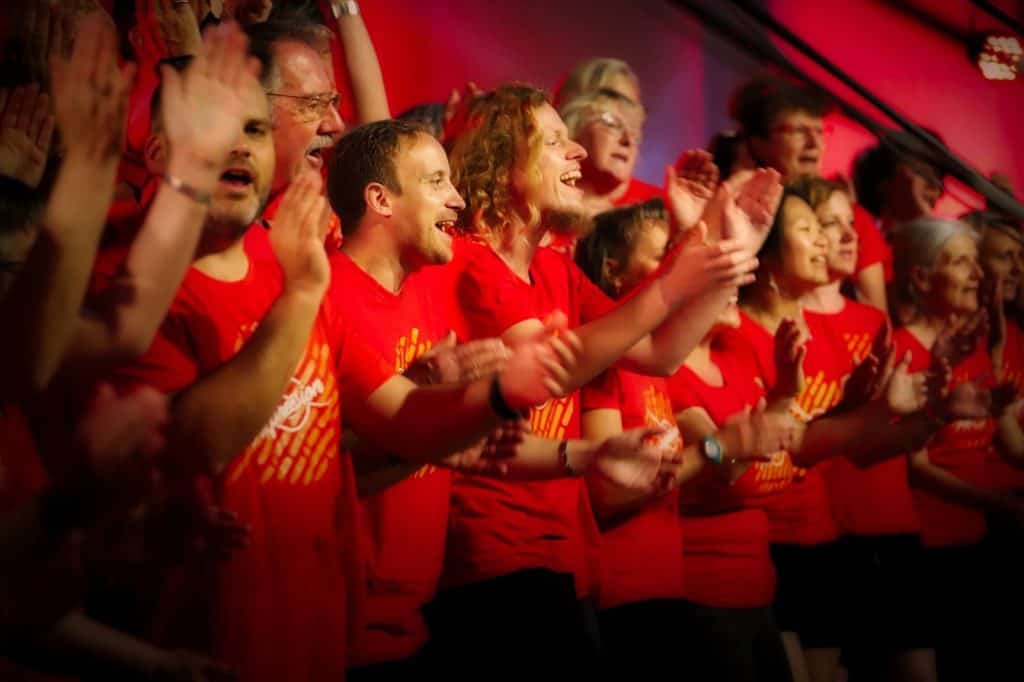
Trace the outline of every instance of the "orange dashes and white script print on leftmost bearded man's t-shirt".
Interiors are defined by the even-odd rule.
[[[255,329],[256,325],[249,325],[240,332],[238,348]],[[232,464],[228,482],[239,480],[250,466],[257,468],[260,483],[309,485],[318,481],[338,456],[339,419],[334,357],[316,327],[278,409]]]

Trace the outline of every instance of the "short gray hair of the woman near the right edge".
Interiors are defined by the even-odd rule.
[[[914,268],[935,267],[939,255],[949,240],[968,237],[978,242],[978,233],[959,220],[949,218],[918,218],[899,225],[890,238],[893,247],[894,302],[904,303],[920,309],[921,298],[913,287]]]

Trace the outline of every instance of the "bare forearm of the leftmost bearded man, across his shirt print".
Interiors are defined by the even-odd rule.
[[[219,473],[245,450],[281,403],[318,308],[316,295],[283,292],[234,357],[175,397],[172,451]]]

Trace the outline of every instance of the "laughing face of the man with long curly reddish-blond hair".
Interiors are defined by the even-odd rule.
[[[526,140],[520,142],[512,169],[512,184],[526,206],[540,214],[542,224],[553,229],[572,231],[586,219],[583,189],[577,186],[582,177],[581,162],[587,152],[569,139],[561,117],[545,103],[534,109],[534,123],[540,137],[540,151],[529,154]]]

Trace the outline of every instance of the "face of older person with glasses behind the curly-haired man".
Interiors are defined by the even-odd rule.
[[[587,150],[584,175],[596,184],[629,182],[640,148],[643,115],[628,102],[596,104],[579,129],[577,141]]]

